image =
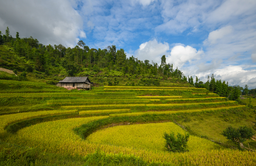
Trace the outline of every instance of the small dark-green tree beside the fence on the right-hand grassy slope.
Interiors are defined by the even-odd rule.
[[[238,147],[242,149],[244,148],[243,142],[253,137],[255,132],[253,128],[249,128],[247,126],[239,126],[239,128],[228,126],[221,134],[227,137],[227,139],[235,142]]]

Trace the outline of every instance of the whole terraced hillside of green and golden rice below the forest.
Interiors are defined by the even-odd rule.
[[[256,115],[236,101],[206,94],[204,88],[105,86],[67,91],[25,82],[0,82],[7,87],[0,94],[2,165],[254,165],[256,161],[255,152],[232,150],[201,137],[232,145],[221,131],[229,125],[254,126]],[[182,123],[187,131],[173,122]],[[171,131],[190,133],[188,152],[165,150],[163,133]],[[255,149],[255,141],[244,145],[248,143]]]

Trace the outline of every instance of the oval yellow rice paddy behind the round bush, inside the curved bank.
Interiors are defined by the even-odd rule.
[[[87,137],[90,143],[107,144],[114,146],[145,149],[148,151],[165,151],[165,132],[179,132],[185,134],[180,126],[172,122],[149,123],[137,125],[114,126],[94,132]],[[189,151],[209,151],[223,149],[221,146],[196,136],[190,136],[188,142]]]

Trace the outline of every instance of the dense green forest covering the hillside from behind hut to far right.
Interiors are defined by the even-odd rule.
[[[206,88],[209,92],[229,99],[239,99],[241,94],[254,94],[239,86],[229,86],[228,82],[208,76],[207,82],[196,76],[185,76],[177,67],[166,63],[165,55],[161,64],[140,61],[134,56],[126,57],[125,50],[108,46],[105,49],[94,49],[80,40],[74,48],[62,44],[45,46],[33,37],[12,37],[9,28],[5,34],[0,31],[0,67],[17,71],[18,77],[0,75],[0,79],[26,80],[27,75],[56,84],[65,76],[90,76],[95,85],[132,86],[189,86]],[[22,72],[22,73],[21,73]],[[173,84],[171,84],[173,83]]]

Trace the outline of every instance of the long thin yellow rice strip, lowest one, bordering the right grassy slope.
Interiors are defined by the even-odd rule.
[[[192,112],[200,112],[200,111],[214,111],[214,110],[222,110],[222,109],[230,109],[230,108],[238,108],[245,107],[245,105],[237,105],[230,107],[218,107],[218,108],[206,108],[206,109],[193,109],[193,110],[175,110],[175,111],[146,111],[146,112],[131,112],[131,113],[115,113],[110,114],[110,117],[119,117],[119,116],[140,116],[145,114],[175,114],[175,113],[192,113]]]

